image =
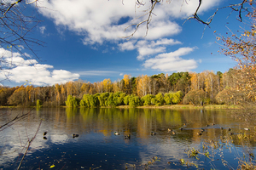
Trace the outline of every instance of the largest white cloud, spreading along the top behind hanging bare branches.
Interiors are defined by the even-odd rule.
[[[219,2],[220,0],[204,1],[199,12],[207,11]],[[135,6],[135,1],[128,0],[44,0],[41,2],[44,8],[38,8],[38,10],[44,16],[54,20],[56,26],[65,26],[70,31],[84,35],[84,44],[93,44],[102,43],[105,40],[119,40],[119,37],[130,35],[135,29],[131,24],[137,24],[148,17],[143,14],[151,3],[150,1],[144,3],[145,5],[138,8]],[[155,40],[177,35],[181,31],[181,26],[178,26],[174,20],[195,13],[197,5],[198,0],[190,0],[187,3],[172,1],[171,4],[166,2],[158,4],[154,8],[147,37],[144,37],[146,26],[143,24],[134,38]],[[127,26],[131,27],[124,32]]]

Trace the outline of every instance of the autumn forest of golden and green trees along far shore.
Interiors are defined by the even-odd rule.
[[[238,105],[252,103],[253,70],[234,68],[218,71],[177,72],[131,77],[112,82],[66,82],[47,87],[21,85],[0,88],[2,106],[84,106],[130,105]],[[251,84],[251,85],[250,85]]]

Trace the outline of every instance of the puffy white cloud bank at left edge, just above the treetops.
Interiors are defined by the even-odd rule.
[[[53,70],[53,65],[41,65],[35,59],[23,59],[19,53],[11,53],[0,48],[4,68],[0,71],[0,80],[9,78],[14,82],[32,82],[33,85],[53,85],[79,79],[79,74],[64,70]]]

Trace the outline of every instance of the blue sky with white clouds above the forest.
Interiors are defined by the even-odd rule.
[[[236,62],[224,54],[216,37],[241,30],[243,24],[230,8],[218,10],[211,25],[186,20],[195,13],[198,0],[162,1],[154,8],[148,25],[134,31],[132,24],[145,20],[151,5],[143,0],[40,0],[28,8],[36,11],[40,22],[32,31],[44,47],[24,49],[26,58],[9,48],[0,48],[2,59],[11,62],[9,70],[0,71],[1,83],[17,86],[51,86],[82,79],[102,82],[131,77],[152,76],[179,71],[228,71]],[[199,16],[209,19],[217,8],[239,0],[203,1]],[[34,13],[33,13],[34,14]],[[241,26],[241,27],[239,27]],[[126,28],[126,30],[125,30]],[[216,31],[216,33],[214,33]],[[228,34],[228,35],[229,35]],[[3,81],[8,76],[9,80]]]

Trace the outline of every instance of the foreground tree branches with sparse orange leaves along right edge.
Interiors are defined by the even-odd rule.
[[[236,60],[235,86],[237,92],[242,92],[247,100],[255,101],[256,99],[256,8],[254,0],[245,1],[247,4],[247,19],[251,23],[248,29],[245,29],[241,35],[232,33],[230,37],[217,37],[221,39],[224,48],[222,53]]]

